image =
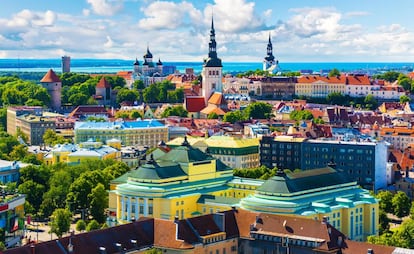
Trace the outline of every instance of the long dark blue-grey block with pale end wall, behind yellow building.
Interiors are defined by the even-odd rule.
[[[364,188],[384,189],[387,179],[385,142],[263,137],[260,163],[281,169],[314,169],[326,165],[343,170]]]

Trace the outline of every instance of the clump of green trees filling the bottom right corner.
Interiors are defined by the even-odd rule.
[[[375,197],[379,199],[379,236],[369,236],[368,242],[414,248],[414,206],[407,194],[380,191]],[[401,225],[391,229],[389,215],[403,218]]]

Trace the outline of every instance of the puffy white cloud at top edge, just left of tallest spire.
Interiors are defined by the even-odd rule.
[[[141,29],[176,29],[184,24],[200,23],[201,12],[188,2],[157,1],[141,11],[146,15],[138,22]]]

